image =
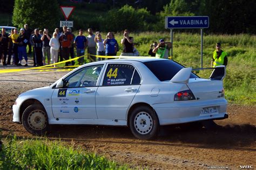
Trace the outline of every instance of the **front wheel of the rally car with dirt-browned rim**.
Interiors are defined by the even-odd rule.
[[[22,115],[22,124],[26,131],[31,134],[44,135],[49,127],[44,107],[39,104],[27,107]]]

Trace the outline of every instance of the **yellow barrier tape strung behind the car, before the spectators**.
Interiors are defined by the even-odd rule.
[[[39,67],[31,67],[31,68],[28,68],[28,69],[3,69],[3,70],[0,70],[0,73],[19,72],[19,71],[26,71],[26,70],[51,71],[51,70],[43,70],[43,69],[57,69],[57,70],[54,70],[54,71],[70,71],[70,70],[73,70],[73,69],[59,69],[59,68],[60,67],[64,67],[64,68],[79,67],[80,65],[60,66],[60,67],[50,67],[50,66],[59,65],[59,64],[66,63],[66,62],[71,62],[73,60],[77,60],[77,59],[85,57],[85,56],[86,55],[83,55],[83,56],[75,57],[75,58],[72,58],[72,59],[64,60],[62,62],[53,63],[53,64],[49,64],[49,65],[44,65],[44,66],[39,66]],[[140,57],[140,56],[98,56],[98,55],[88,54],[87,58],[90,59],[90,60],[93,60],[90,56],[95,56],[97,58],[156,58],[156,57]],[[172,59],[172,57],[168,57],[168,58]]]

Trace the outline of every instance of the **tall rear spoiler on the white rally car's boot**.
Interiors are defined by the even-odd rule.
[[[173,78],[170,80],[172,83],[188,83],[190,79],[191,71],[196,70],[206,70],[206,69],[214,69],[210,80],[223,80],[226,76],[226,67],[225,65],[220,65],[217,67],[209,67],[209,68],[201,68],[201,69],[193,69],[191,67],[181,69]]]

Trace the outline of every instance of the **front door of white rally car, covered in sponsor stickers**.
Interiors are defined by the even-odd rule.
[[[97,119],[95,94],[103,66],[83,67],[63,79],[64,87],[52,94],[55,118]]]

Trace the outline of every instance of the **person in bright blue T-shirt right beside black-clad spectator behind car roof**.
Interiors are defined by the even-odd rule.
[[[104,40],[104,45],[106,46],[106,56],[116,56],[117,55],[117,40],[114,39],[113,33],[107,33],[107,38]]]

